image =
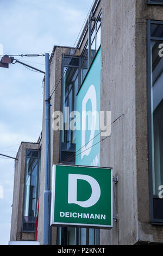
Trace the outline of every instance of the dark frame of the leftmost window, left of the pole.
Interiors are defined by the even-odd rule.
[[[30,151],[38,151],[38,156],[28,156],[28,150]],[[38,202],[38,198],[39,198],[39,185],[40,185],[40,156],[41,156],[41,150],[40,149],[26,149],[26,161],[25,164],[27,162],[27,158],[33,158],[33,159],[37,159],[37,191],[36,191],[36,202]],[[23,218],[24,218],[24,207],[25,207],[25,202],[24,202],[24,195],[25,195],[25,190],[26,190],[26,186],[25,186],[25,182],[26,182],[26,173],[27,173],[27,164],[25,166],[25,172],[24,172],[24,189],[23,189],[23,212],[22,212],[22,233],[35,233],[35,230],[33,231],[29,231],[29,230],[24,230],[23,229]],[[37,209],[36,209],[37,211]],[[36,224],[36,222],[35,222]]]

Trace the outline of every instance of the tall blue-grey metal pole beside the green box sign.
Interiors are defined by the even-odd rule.
[[[45,54],[45,192],[43,194],[43,245],[51,245],[51,122],[49,102],[49,54]]]

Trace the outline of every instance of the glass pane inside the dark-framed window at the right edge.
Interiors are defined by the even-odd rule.
[[[157,196],[163,184],[163,58],[160,47],[163,49],[163,41],[151,41],[153,194]]]

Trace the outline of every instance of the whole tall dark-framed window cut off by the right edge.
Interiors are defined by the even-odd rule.
[[[148,141],[151,221],[163,223],[163,22],[148,20]]]

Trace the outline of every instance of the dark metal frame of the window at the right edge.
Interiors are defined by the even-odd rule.
[[[163,21],[147,20],[147,118],[148,118],[148,164],[149,164],[149,208],[150,220],[152,224],[163,225],[163,218],[154,218],[154,198],[153,194],[153,168],[152,168],[152,118],[151,118],[151,41],[162,41],[163,38],[151,36],[151,25],[163,25]],[[163,202],[163,199],[160,199]]]

